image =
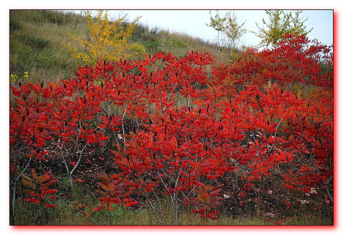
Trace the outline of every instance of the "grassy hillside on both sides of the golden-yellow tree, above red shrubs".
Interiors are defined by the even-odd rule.
[[[81,60],[72,58],[61,44],[63,41],[73,43],[69,33],[87,38],[85,16],[67,11],[11,10],[10,73],[24,81],[23,75],[27,71],[28,80],[39,82],[56,81],[73,75],[73,67],[77,67]],[[198,50],[209,51],[217,58],[220,56],[215,45],[200,38],[141,23],[138,23],[130,43],[142,44],[147,54],[165,50],[180,56],[185,55],[186,51]]]

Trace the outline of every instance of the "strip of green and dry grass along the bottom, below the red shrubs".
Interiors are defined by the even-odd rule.
[[[58,206],[54,209],[45,209],[28,204],[26,202],[17,203],[15,223],[12,225],[158,225],[158,222],[151,210],[138,209],[130,210],[125,208],[123,213],[120,206],[115,206],[114,210],[91,212],[82,207],[76,207],[73,201],[68,199],[58,201]],[[89,204],[89,203],[85,203]],[[20,213],[19,213],[20,211]],[[88,211],[90,215],[84,214]],[[313,213],[299,214],[284,221],[281,225],[333,225],[333,220],[328,214]],[[124,215],[124,216],[123,216]],[[274,219],[276,220],[276,219]],[[218,220],[205,220],[193,214],[191,210],[181,211],[178,225],[274,225],[267,220],[266,216],[236,216],[229,214],[219,215]]]

